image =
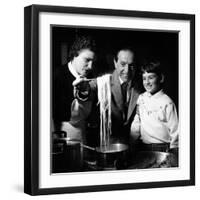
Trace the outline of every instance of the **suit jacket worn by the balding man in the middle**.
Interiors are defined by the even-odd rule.
[[[94,98],[97,93],[97,82],[90,82],[91,95]],[[112,117],[112,136],[111,142],[125,142],[129,140],[131,122],[136,113],[136,103],[139,96],[137,83],[133,80],[128,84],[127,115],[125,115],[121,84],[117,71],[111,75],[111,117]],[[98,114],[99,116],[99,114]]]

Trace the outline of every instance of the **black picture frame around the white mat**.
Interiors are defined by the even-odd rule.
[[[141,183],[118,183],[90,186],[41,188],[39,171],[39,15],[40,13],[78,14],[92,16],[109,16],[165,19],[187,21],[190,24],[189,71],[190,71],[190,152],[189,178],[186,180],[150,181]],[[83,7],[62,7],[31,5],[24,9],[24,192],[30,195],[94,192],[109,190],[126,190],[141,188],[158,188],[187,186],[195,184],[195,15],[160,12],[143,12],[130,10],[111,10]]]

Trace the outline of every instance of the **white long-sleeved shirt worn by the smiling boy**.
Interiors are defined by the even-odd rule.
[[[178,147],[178,116],[173,101],[162,91],[138,98],[137,113],[131,125],[131,136],[143,143],[170,143]]]

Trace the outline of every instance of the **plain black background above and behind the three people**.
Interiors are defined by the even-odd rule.
[[[165,74],[164,90],[178,109],[178,33],[133,29],[108,29],[52,26],[52,69],[68,62],[68,52],[75,38],[91,35],[97,43],[97,61],[94,74],[112,71],[114,50],[121,45],[135,50],[136,63],[140,67],[146,59],[161,61]]]

